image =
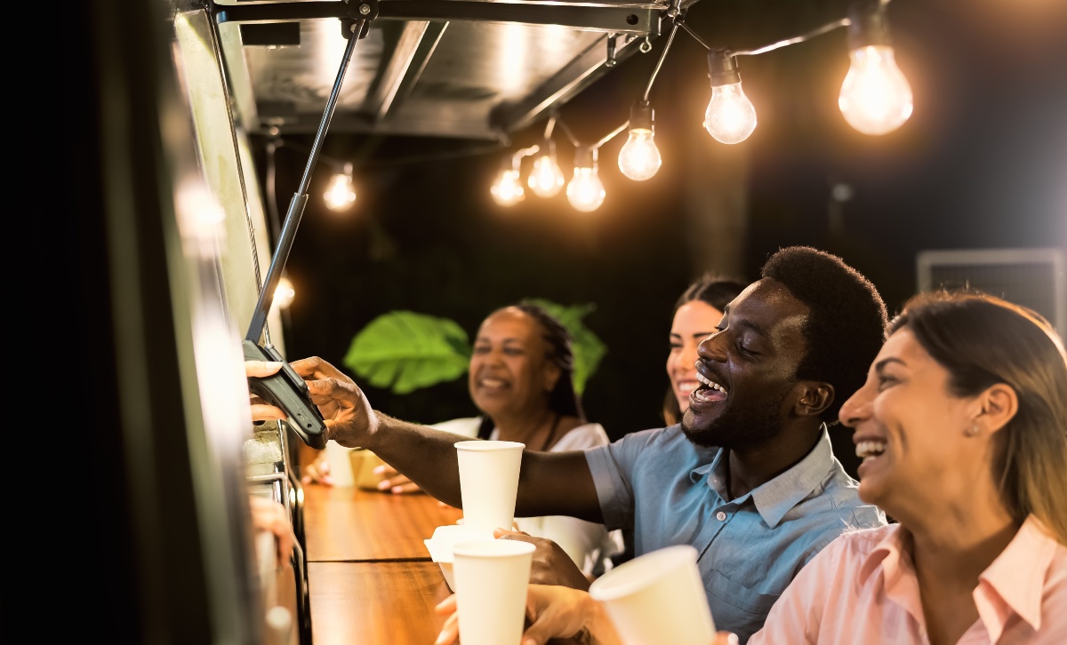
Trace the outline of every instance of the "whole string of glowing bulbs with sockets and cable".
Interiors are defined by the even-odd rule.
[[[692,36],[708,52],[707,67],[712,98],[704,113],[703,127],[720,143],[731,145],[742,143],[752,134],[757,126],[755,108],[742,88],[738,57],[758,55],[803,43],[842,27],[848,28],[850,66],[838,97],[841,113],[845,122],[860,132],[866,134],[892,132],[911,116],[913,101],[911,87],[896,66],[895,53],[889,41],[886,20],[886,7],[889,1],[855,0],[846,18],[765,47],[738,51],[713,47],[704,42],[685,23],[685,13],[688,7],[682,9],[683,0],[671,0],[666,9],[667,17],[673,21],[670,36],[649,77],[643,96],[631,107],[630,119],[600,142],[587,145],[575,139],[567,124],[553,112],[541,144],[523,148],[505,160],[490,188],[493,199],[500,206],[510,207],[525,198],[521,162],[524,157],[538,152],[540,155],[534,160],[525,184],[539,197],[547,198],[559,194],[566,180],[556,158],[556,143],[552,139],[553,128],[557,124],[575,147],[574,174],[570,182],[567,182],[567,198],[575,209],[589,212],[596,210],[604,203],[606,191],[596,166],[598,150],[624,129],[628,129],[630,133],[619,150],[619,171],[634,181],[646,181],[655,176],[663,164],[663,157],[655,143],[655,112],[649,96],[679,29]],[[614,46],[615,39],[609,38],[609,60]],[[641,47],[641,51],[649,50],[651,45]],[[355,201],[351,164],[346,164],[345,172],[334,177],[325,197],[328,205],[334,209],[351,206]]]

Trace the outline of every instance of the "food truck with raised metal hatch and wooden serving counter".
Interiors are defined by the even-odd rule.
[[[432,606],[447,586],[423,545],[429,532],[386,528],[378,551],[333,553],[320,539],[320,552],[308,552],[293,439],[321,447],[320,428],[314,419],[307,432],[287,422],[254,428],[246,417],[242,341],[245,356],[251,343],[273,352],[262,357],[296,358],[265,294],[299,235],[321,142],[330,132],[500,141],[647,50],[667,14],[688,4],[71,7],[80,20],[67,64],[81,81],[70,98],[80,116],[71,136],[84,172],[66,258],[82,287],[80,328],[95,339],[83,396],[99,429],[99,489],[110,500],[95,518],[108,538],[94,555],[111,588],[100,602],[109,641],[432,640]],[[313,134],[314,143],[273,231],[250,138],[287,133]],[[249,495],[289,510],[300,544],[288,567],[273,565],[271,543],[252,530]],[[353,522],[411,516],[429,531],[455,520],[425,505],[360,513]]]

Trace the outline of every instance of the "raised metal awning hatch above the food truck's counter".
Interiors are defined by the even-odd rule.
[[[669,9],[668,0],[211,3],[235,117],[248,132],[325,125],[471,140],[506,139],[566,104],[658,37]],[[345,34],[365,16],[350,47]]]

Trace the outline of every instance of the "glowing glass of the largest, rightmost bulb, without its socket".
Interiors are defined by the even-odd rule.
[[[848,52],[851,66],[841,84],[838,107],[848,125],[864,134],[886,134],[911,116],[911,86],[896,66],[893,48],[867,45]]]

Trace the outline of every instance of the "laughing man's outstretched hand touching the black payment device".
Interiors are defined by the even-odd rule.
[[[363,390],[347,374],[318,356],[293,360],[290,365],[303,376],[312,402],[319,406],[327,439],[346,448],[365,448],[367,439],[378,430],[378,416]]]

